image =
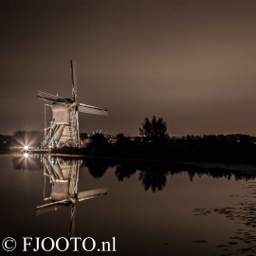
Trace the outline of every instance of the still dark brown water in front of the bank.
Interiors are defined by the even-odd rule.
[[[44,164],[48,164],[45,171]],[[76,164],[82,165],[80,170]],[[23,155],[0,155],[0,173],[1,245],[6,237],[17,243],[12,252],[1,248],[0,255],[256,255],[253,175],[52,157],[44,163],[42,157]],[[76,178],[77,187],[71,184]],[[36,215],[36,207],[51,203],[44,198],[58,191],[53,186],[60,179],[77,191],[67,191],[64,204],[43,208]],[[107,195],[75,198],[79,192],[84,196],[101,188],[107,188]],[[76,209],[73,219],[72,206]],[[68,237],[70,220],[71,236],[87,238],[84,247],[92,251],[85,251],[80,240],[74,251]],[[31,238],[27,251],[23,251],[24,237]],[[36,237],[41,248],[33,251]],[[69,243],[65,251],[56,245],[48,252],[42,248],[45,238],[44,247],[49,250],[60,237]],[[64,238],[59,244],[62,250]],[[101,251],[101,242],[109,242],[105,250],[111,252]]]

